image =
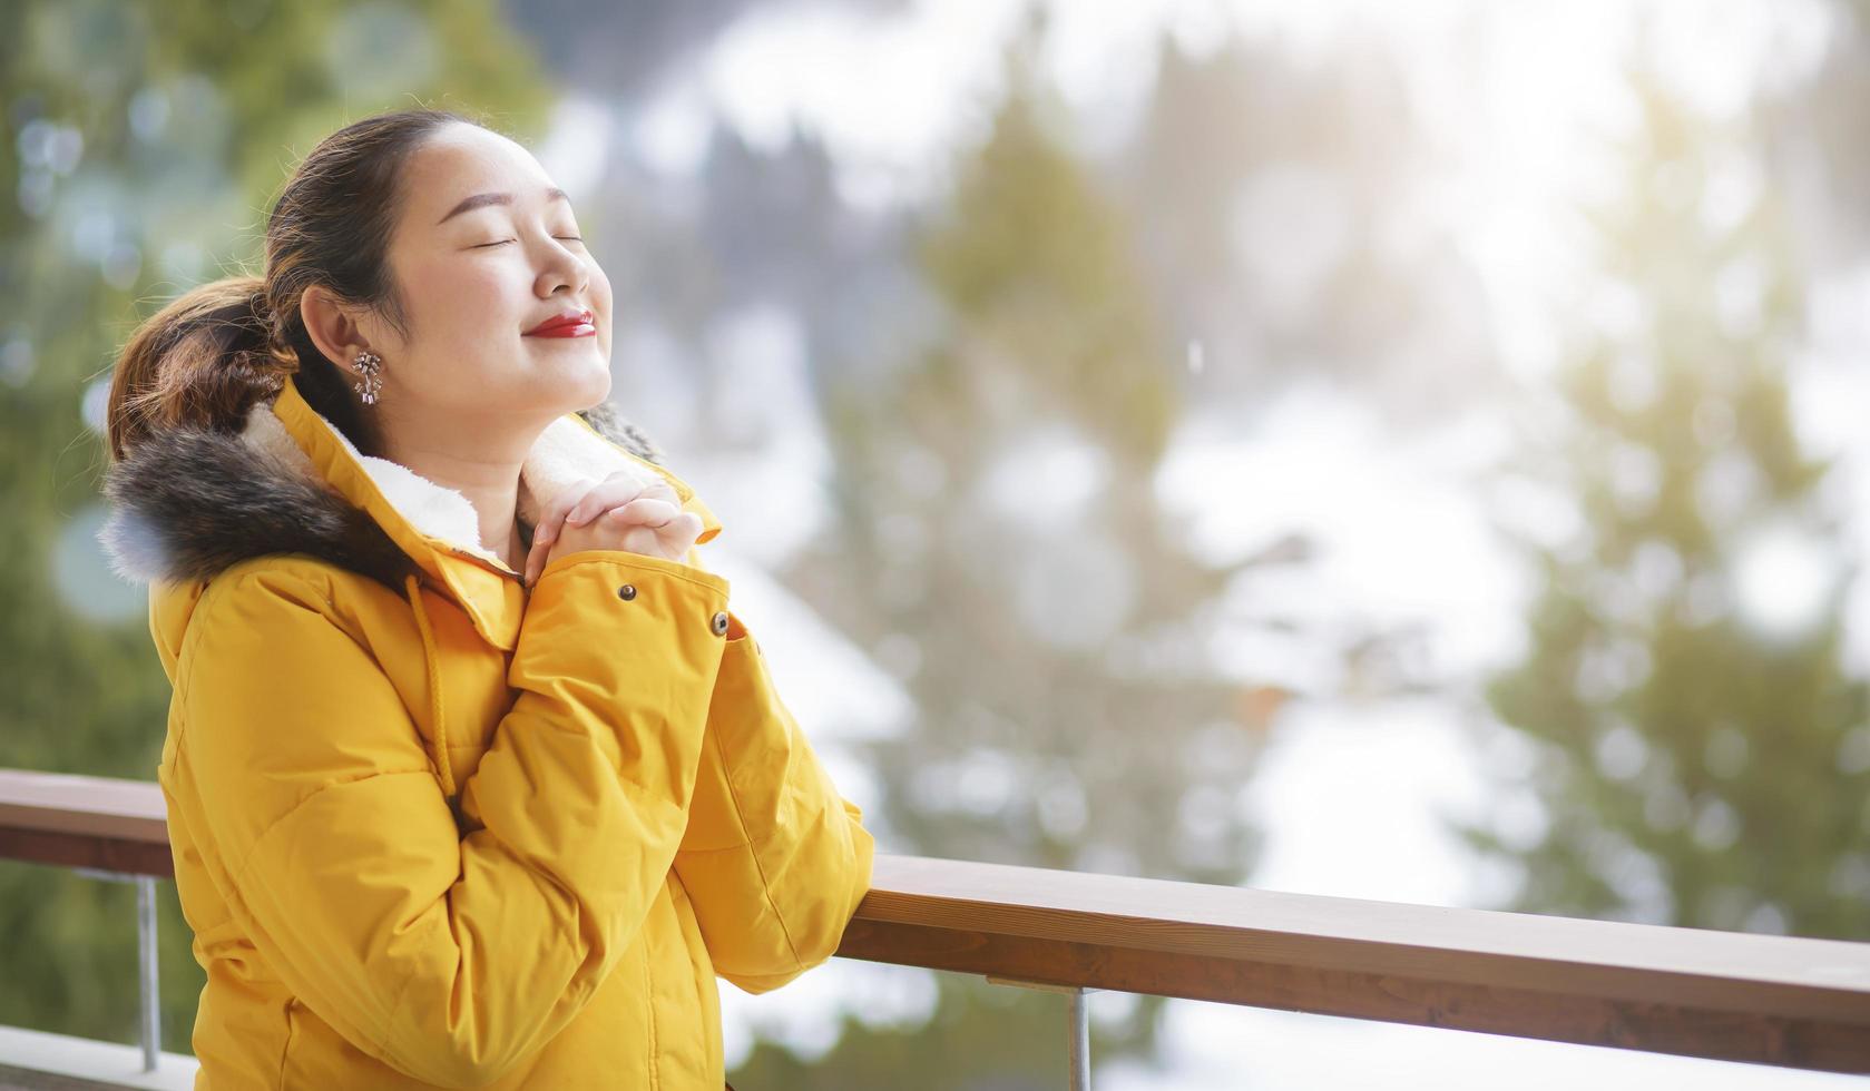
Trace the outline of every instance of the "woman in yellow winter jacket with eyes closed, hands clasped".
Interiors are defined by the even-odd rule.
[[[568,200],[434,110],[324,140],[266,275],[125,346],[198,1085],[720,1087],[714,977],[836,951],[871,835],[610,346]]]

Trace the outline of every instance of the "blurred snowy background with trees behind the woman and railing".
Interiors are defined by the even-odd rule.
[[[0,4],[0,766],[153,779],[114,351],[258,265],[324,135],[432,105],[570,191],[613,400],[883,852],[1870,940],[1866,15]],[[0,863],[0,1024],[135,1039],[129,886]],[[722,1003],[744,1087],[1064,1080],[1043,992],[834,960]],[[1090,1018],[1113,1091],[1844,1085]]]

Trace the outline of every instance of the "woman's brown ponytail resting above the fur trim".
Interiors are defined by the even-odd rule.
[[[237,432],[254,402],[279,394],[297,355],[280,346],[258,276],[202,284],[137,327],[118,353],[105,415],[110,461],[151,432]]]

